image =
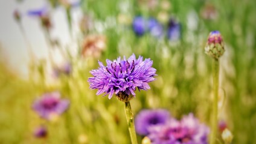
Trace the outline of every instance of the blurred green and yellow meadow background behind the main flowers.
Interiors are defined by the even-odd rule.
[[[136,92],[133,113],[163,108],[210,124],[211,31],[222,34],[219,120],[232,143],[256,143],[256,2],[179,0],[0,1],[0,143],[130,143],[123,103],[96,96],[97,61],[132,53],[153,61],[158,76]],[[70,101],[51,121],[34,100],[58,91]],[[40,125],[43,138],[35,136]],[[220,128],[221,129],[221,128]],[[219,131],[219,142],[223,143]],[[138,135],[141,142],[142,136]]]

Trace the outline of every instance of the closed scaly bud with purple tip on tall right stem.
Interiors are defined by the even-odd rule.
[[[208,36],[205,53],[214,59],[219,59],[225,52],[222,35],[219,31],[212,31]]]

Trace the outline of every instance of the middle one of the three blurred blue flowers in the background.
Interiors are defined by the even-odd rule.
[[[148,25],[149,32],[153,37],[162,36],[163,27],[161,23],[159,23],[156,19],[154,19],[153,17],[150,18],[147,25]]]

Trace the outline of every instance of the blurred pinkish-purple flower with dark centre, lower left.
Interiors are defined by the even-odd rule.
[[[51,116],[61,115],[69,107],[69,100],[60,99],[59,92],[45,93],[42,97],[34,101],[33,109],[45,119]]]

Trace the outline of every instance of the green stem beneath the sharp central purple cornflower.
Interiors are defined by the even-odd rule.
[[[132,108],[130,107],[129,101],[124,103],[125,103],[125,110],[126,110],[126,119],[127,119],[127,124],[129,128],[129,133],[130,133],[130,140],[132,141],[132,144],[137,144],[138,142],[137,142],[135,127],[134,127]]]

